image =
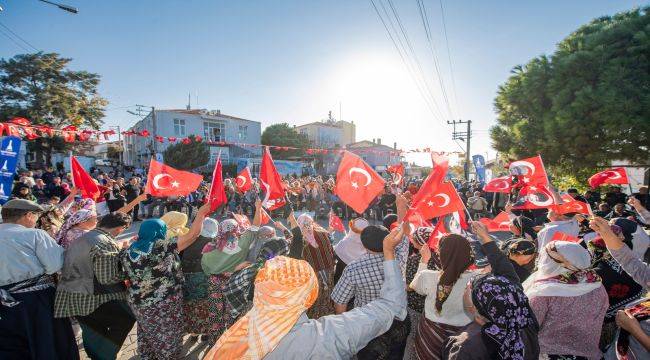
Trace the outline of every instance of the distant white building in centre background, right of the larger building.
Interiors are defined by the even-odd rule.
[[[327,120],[296,126],[296,131],[307,135],[309,143],[318,148],[344,148],[356,141],[354,122],[336,121],[331,111]]]

